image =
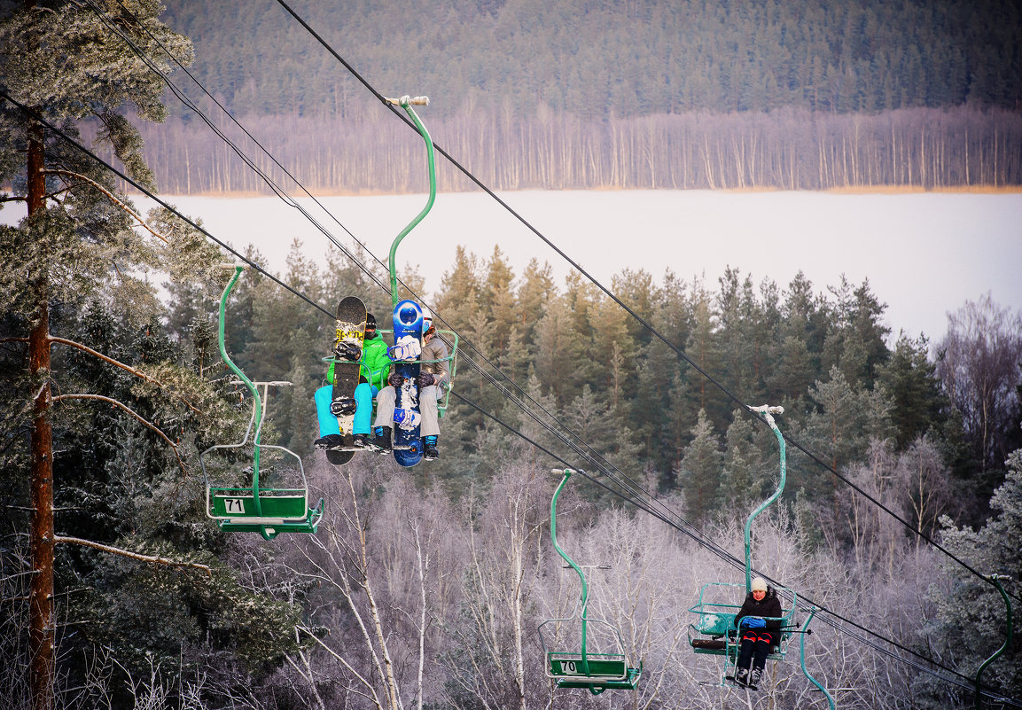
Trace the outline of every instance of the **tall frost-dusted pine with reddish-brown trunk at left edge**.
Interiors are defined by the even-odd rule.
[[[57,574],[65,581],[79,581],[68,565],[80,570],[84,561],[93,560],[96,572],[74,598],[88,598],[92,605],[89,612],[95,615],[83,614],[91,625],[80,628],[89,633],[75,635],[129,632],[127,625],[104,625],[117,615],[107,614],[102,602],[119,599],[119,584],[130,581],[132,571],[97,571],[99,565],[89,557],[94,551],[80,546],[94,543],[85,537],[95,533],[106,543],[130,537],[140,552],[161,557],[185,549],[211,560],[212,543],[201,539],[207,526],[174,519],[174,513],[190,507],[201,521],[200,496],[189,490],[196,477],[183,472],[196,443],[206,445],[201,439],[236,428],[247,414],[231,412],[187,367],[190,363],[176,358],[174,343],[161,332],[162,306],[149,280],[169,274],[172,280],[193,279],[219,290],[212,281],[214,264],[222,256],[168,210],[142,218],[124,186],[67,140],[82,143],[83,134],[94,135],[92,150],[115,158],[138,184],[153,187],[132,122],[164,119],[164,82],[142,57],[167,73],[167,52],[183,64],[192,54],[188,39],[158,19],[160,10],[150,0],[0,2],[0,185],[11,186],[0,202],[28,205],[26,219],[0,227],[5,385],[0,490],[5,510],[15,511],[12,527],[22,533],[5,539],[30,533],[28,551],[18,542],[4,542],[0,550],[5,561],[20,564],[28,557],[30,567],[24,574],[4,575],[22,580],[15,595],[28,599],[26,613],[18,616],[27,620],[27,649],[13,653],[28,660],[29,668],[17,670],[21,664],[8,664],[10,658],[0,662],[8,668],[0,691],[10,707],[43,710],[65,704],[55,697],[57,676],[67,675],[55,671],[55,630],[67,626],[57,623],[56,546],[77,542],[60,550],[85,551],[60,554]],[[74,498],[61,499],[68,491]],[[153,515],[160,506],[161,518]],[[220,579],[202,588],[186,586],[180,581],[161,586],[152,578],[143,589],[148,596],[133,600],[139,613],[120,610],[132,624],[148,614],[170,631],[167,638],[156,638],[136,630],[129,646],[148,643],[147,652],[170,640],[175,658],[181,652],[173,636],[182,629],[150,600],[167,600],[167,609],[177,605],[185,617],[197,607],[226,604],[210,614],[229,619],[237,616],[229,607],[245,597],[236,584]],[[192,599],[182,604],[187,594]],[[276,621],[287,626],[285,617],[293,613],[286,605],[263,611],[264,619],[275,621],[253,634],[266,633]],[[6,614],[3,621],[6,626]],[[24,625],[13,625],[20,636]],[[231,631],[237,629],[234,623]],[[268,638],[278,643],[273,634]],[[5,653],[10,648],[5,646]],[[263,656],[260,661],[269,657]]]

